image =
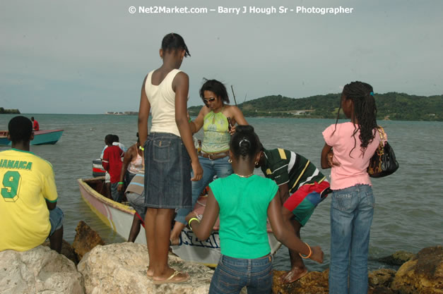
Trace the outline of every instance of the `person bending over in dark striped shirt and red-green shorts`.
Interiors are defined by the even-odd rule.
[[[302,226],[331,192],[326,177],[305,157],[281,148],[265,149],[261,146],[260,160],[255,167],[261,167],[264,176],[277,183],[283,203],[283,218],[290,220],[300,238]],[[282,277],[284,283],[292,283],[307,274],[305,263],[298,253],[289,250],[291,270]]]

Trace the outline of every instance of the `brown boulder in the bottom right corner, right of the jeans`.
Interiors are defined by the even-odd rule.
[[[427,247],[398,269],[391,288],[402,294],[443,293],[443,248]]]

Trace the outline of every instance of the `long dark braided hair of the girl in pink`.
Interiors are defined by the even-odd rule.
[[[357,118],[358,121],[358,128],[355,128],[353,133],[353,149],[355,149],[355,146],[357,145],[355,134],[360,130],[358,138],[360,139],[360,150],[362,151],[362,154],[365,154],[367,145],[374,140],[374,128],[377,128],[377,106],[375,106],[373,91],[372,86],[366,82],[356,81],[345,85],[345,87],[343,87],[343,92],[341,93],[341,99],[351,99],[353,101],[353,116]],[[336,128],[340,109],[341,104],[338,108]],[[353,149],[350,150],[349,155]]]

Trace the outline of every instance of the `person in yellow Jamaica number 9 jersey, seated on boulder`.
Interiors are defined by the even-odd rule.
[[[51,249],[60,252],[64,216],[56,207],[52,165],[29,151],[29,118],[12,118],[8,131],[12,148],[0,152],[0,251],[30,250],[49,237]]]

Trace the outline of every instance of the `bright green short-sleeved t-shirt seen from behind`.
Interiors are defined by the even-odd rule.
[[[220,207],[220,247],[228,257],[254,259],[271,252],[266,231],[268,205],[278,186],[261,176],[235,173],[209,184]]]

